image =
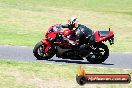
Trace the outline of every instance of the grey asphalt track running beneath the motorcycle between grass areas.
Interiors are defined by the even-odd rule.
[[[33,47],[0,46],[0,59],[16,61],[37,61],[32,53]],[[89,66],[132,69],[132,52],[110,52],[109,58],[102,64],[89,64],[87,60],[70,60],[53,57],[51,64],[84,64]]]

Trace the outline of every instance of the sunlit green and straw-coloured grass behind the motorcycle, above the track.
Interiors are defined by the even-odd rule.
[[[72,16],[94,31],[111,27],[111,51],[132,51],[131,0],[0,0],[0,44],[34,46],[49,26]]]

